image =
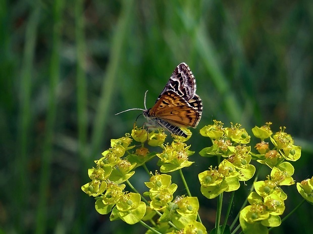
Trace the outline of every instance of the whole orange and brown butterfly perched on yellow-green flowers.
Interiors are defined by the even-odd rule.
[[[169,81],[160,93],[152,108],[133,108],[129,110],[142,110],[148,128],[164,128],[170,133],[187,137],[180,127],[195,128],[202,115],[202,101],[196,92],[195,78],[187,64],[179,64]],[[129,111],[126,110],[126,111]],[[121,114],[122,111],[118,114]],[[116,114],[116,115],[118,115]]]

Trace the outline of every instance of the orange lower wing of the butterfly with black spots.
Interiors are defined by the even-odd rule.
[[[148,117],[162,119],[175,126],[196,127],[201,118],[202,102],[198,96],[191,105],[172,90],[163,92],[161,98],[149,110]]]

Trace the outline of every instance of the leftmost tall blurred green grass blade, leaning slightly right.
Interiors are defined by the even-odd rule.
[[[35,4],[30,14],[29,20],[26,25],[25,35],[25,47],[23,52],[23,61],[21,69],[20,85],[20,105],[19,105],[19,128],[18,128],[18,150],[16,157],[16,165],[19,170],[19,191],[17,195],[19,212],[16,215],[16,222],[18,223],[18,229],[23,228],[21,226],[21,219],[25,215],[24,211],[27,206],[27,201],[30,194],[30,188],[28,186],[29,171],[27,170],[28,163],[28,143],[29,133],[31,126],[31,91],[32,91],[32,73],[33,73],[33,59],[35,54],[35,43],[37,38],[37,26],[39,23],[40,5]],[[20,229],[21,230],[21,229]]]

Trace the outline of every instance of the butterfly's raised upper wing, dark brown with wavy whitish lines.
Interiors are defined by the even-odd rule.
[[[192,71],[187,64],[181,63],[175,68],[173,74],[159,95],[159,98],[156,99],[155,103],[159,101],[163,93],[167,90],[176,92],[177,95],[182,97],[187,102],[195,96],[196,82]]]

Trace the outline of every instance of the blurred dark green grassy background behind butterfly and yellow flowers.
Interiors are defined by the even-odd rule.
[[[311,0],[1,0],[0,233],[143,233],[99,215],[80,187],[110,138],[130,132],[140,112],[114,114],[143,108],[145,90],[151,107],[181,62],[203,100],[191,150],[207,146],[198,130],[213,119],[250,134],[271,121],[302,146],[293,178],[310,178],[312,28]],[[215,163],[197,153],[191,161],[191,183]],[[210,230],[216,201],[191,187]],[[284,190],[288,213],[302,198],[295,186]],[[312,210],[305,203],[272,233],[311,233]]]

